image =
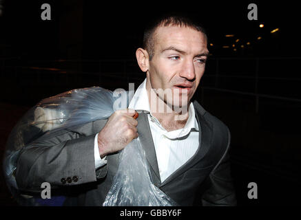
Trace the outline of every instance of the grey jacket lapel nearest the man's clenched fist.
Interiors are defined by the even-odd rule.
[[[147,159],[147,162],[149,162],[151,168],[152,181],[156,186],[158,186],[161,183],[160,173],[152,133],[150,131],[149,122],[147,119],[147,113],[139,113],[137,121],[138,135],[139,139],[141,140],[141,145],[143,146],[145,151],[145,157]]]

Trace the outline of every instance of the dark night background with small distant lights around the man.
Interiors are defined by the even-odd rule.
[[[0,156],[14,124],[42,98],[81,87],[137,88],[145,78],[135,60],[144,23],[185,12],[212,44],[195,98],[229,126],[238,205],[300,205],[297,5],[180,2],[0,1]],[[41,20],[42,3],[51,5],[51,21]],[[258,21],[248,20],[249,3],[257,4]],[[258,199],[248,199],[249,182],[258,184]],[[0,205],[17,205],[2,173]]]

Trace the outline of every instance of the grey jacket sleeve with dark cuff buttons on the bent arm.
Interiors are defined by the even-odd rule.
[[[19,155],[16,180],[20,190],[52,188],[96,181],[107,173],[107,165],[95,169],[93,122],[77,129],[43,135],[25,146]]]

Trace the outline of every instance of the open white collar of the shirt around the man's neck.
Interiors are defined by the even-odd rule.
[[[138,89],[136,90],[132,100],[129,102],[129,109],[143,110],[150,113],[149,99],[146,90],[146,80],[147,79],[145,78],[143,83],[141,83],[141,85],[139,85]],[[152,113],[150,113],[150,117],[152,121],[156,122],[156,124],[160,126],[161,129],[164,129],[163,126],[160,125],[160,122],[152,115]],[[178,129],[178,130],[181,130],[180,132],[182,136],[182,135],[187,135],[187,133],[189,133],[191,129],[195,129],[196,131],[199,131],[198,122],[196,120],[196,113],[194,110],[194,104],[192,102],[189,105],[187,122],[183,129]],[[172,135],[173,133],[175,133],[176,135],[177,133],[178,135],[177,132],[178,130],[170,131],[168,133],[170,133],[170,135]]]

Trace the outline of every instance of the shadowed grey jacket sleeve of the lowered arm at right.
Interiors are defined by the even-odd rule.
[[[229,162],[230,132],[225,153],[209,175],[209,189],[203,194],[203,206],[236,206],[236,193]]]

